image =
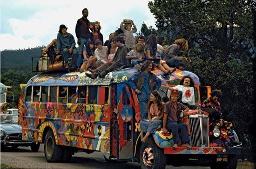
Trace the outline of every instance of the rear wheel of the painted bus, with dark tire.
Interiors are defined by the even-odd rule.
[[[54,163],[61,160],[62,149],[61,146],[56,145],[54,139],[54,133],[52,130],[48,130],[44,140],[44,154],[47,162]]]

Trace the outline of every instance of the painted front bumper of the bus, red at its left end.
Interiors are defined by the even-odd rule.
[[[222,148],[222,147],[191,147],[191,149],[187,149],[186,147],[165,147],[164,154],[190,154],[190,155],[217,155],[217,154],[225,154],[225,155],[237,155],[241,154],[242,148]]]

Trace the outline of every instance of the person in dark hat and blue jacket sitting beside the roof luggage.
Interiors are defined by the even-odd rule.
[[[77,61],[78,51],[75,48],[74,36],[67,32],[67,27],[61,25],[57,35],[57,52],[58,55],[62,52],[62,58],[65,62],[65,67],[68,68],[68,55],[73,54],[72,60]],[[79,68],[79,67],[78,67]]]

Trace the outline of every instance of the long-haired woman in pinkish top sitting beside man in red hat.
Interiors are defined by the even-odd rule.
[[[150,133],[161,129],[163,117],[163,103],[158,91],[152,91],[148,101],[148,120],[141,120],[141,130],[147,131],[141,142],[146,142]]]

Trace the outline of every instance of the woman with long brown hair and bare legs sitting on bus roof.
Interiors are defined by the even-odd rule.
[[[156,36],[155,35],[149,35],[147,40],[146,40],[146,45],[145,45],[145,51],[148,59],[152,58],[158,58],[156,56],[156,50],[157,50],[157,45],[156,45]],[[160,59],[160,58],[159,58]],[[176,69],[175,68],[170,68],[166,62],[162,59],[160,59],[159,64],[155,64],[158,69],[163,71],[164,73],[171,75]]]

